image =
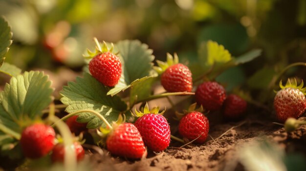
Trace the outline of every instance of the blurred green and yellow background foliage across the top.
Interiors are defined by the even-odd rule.
[[[203,41],[234,57],[261,48],[261,57],[217,78],[228,89],[264,89],[289,63],[306,61],[306,0],[0,0],[0,15],[13,31],[6,61],[22,70],[80,71],[93,37],[139,39],[157,59],[177,52],[194,71]]]

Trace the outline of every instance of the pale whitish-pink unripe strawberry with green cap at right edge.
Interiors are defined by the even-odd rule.
[[[274,97],[274,109],[276,111],[276,116],[279,121],[284,122],[287,118],[300,117],[306,110],[306,98],[305,91],[302,83],[297,86],[296,79],[291,83],[288,79],[285,86],[280,82],[280,87],[282,88]]]

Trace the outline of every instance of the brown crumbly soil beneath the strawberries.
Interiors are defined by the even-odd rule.
[[[138,161],[111,156],[106,150],[102,155],[96,152],[88,155],[94,171],[243,171],[243,166],[236,159],[237,148],[265,138],[278,143],[286,152],[302,152],[305,155],[306,126],[294,133],[286,133],[269,117],[270,114],[250,114],[245,117],[248,119],[224,122],[221,114],[209,114],[211,137],[203,145],[191,144],[180,148],[182,144],[172,140],[164,152],[149,152],[147,158]],[[170,123],[172,133],[177,135],[174,126],[177,122],[171,120]]]

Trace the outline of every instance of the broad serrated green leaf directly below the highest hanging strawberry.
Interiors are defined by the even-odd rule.
[[[116,121],[118,115],[127,109],[127,105],[119,96],[109,96],[109,87],[104,86],[88,73],[83,78],[77,77],[76,82],[69,82],[61,95],[62,103],[68,105],[66,112],[93,110],[102,114],[110,123]],[[88,122],[87,128],[99,127],[103,121],[91,113],[81,113],[80,122]]]

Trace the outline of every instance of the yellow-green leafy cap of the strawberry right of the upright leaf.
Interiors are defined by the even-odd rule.
[[[172,65],[178,64],[178,56],[176,53],[174,53],[174,56],[171,54],[167,53],[167,61],[161,61],[161,60],[156,60],[158,66],[153,66],[153,69],[160,75],[166,69]]]

